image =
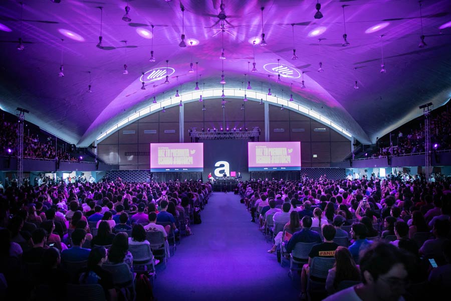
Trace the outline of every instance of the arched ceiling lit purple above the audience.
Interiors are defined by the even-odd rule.
[[[418,47],[417,1],[322,0],[324,18],[314,19],[315,1],[224,0],[226,20],[233,26],[223,34],[225,60],[219,59],[222,34],[214,35],[219,30],[211,28],[218,20],[218,0],[181,1],[185,48],[178,46],[182,13],[177,0],[129,1],[131,22],[121,20],[124,0],[23,2],[22,17],[17,1],[0,3],[0,108],[12,113],[18,106],[29,109],[28,120],[82,146],[132,111],[148,106],[154,95],[158,100],[163,92],[193,90],[196,73],[188,73],[191,60],[194,70],[199,62],[200,89],[220,88],[221,70],[226,89],[241,88],[244,74],[249,73],[248,62],[252,68],[254,50],[258,72],[247,78],[253,90],[267,92],[271,87],[273,95],[293,93],[295,102],[346,128],[362,142],[374,142],[420,115],[418,105],[432,102],[437,107],[451,97],[451,2],[447,0],[422,1],[427,44],[423,48]],[[347,47],[342,47],[343,5]],[[103,7],[103,49],[96,48],[100,33],[96,7]],[[261,7],[265,7],[268,45],[254,47],[252,41],[259,41],[262,33]],[[295,24],[297,60],[292,60],[291,24]],[[380,24],[386,27],[366,33],[371,27],[381,28]],[[138,34],[147,30],[147,38],[151,37],[151,25],[153,39]],[[320,27],[324,33],[312,36]],[[64,36],[62,30],[71,31],[72,38],[78,34],[81,41]],[[21,36],[23,51],[16,49]],[[189,47],[189,39],[199,44]],[[152,40],[155,62],[149,62]],[[381,45],[386,73],[379,72]],[[64,77],[58,76],[61,53]],[[142,72],[165,71],[166,60],[174,69],[169,72],[170,83],[165,85],[163,78],[145,83],[146,90],[141,90]],[[277,83],[272,68],[278,60],[294,72],[290,74],[305,72],[305,89],[302,78],[282,77]],[[317,72],[319,62],[324,72]],[[270,63],[275,65],[264,68]],[[127,75],[122,74],[124,64]],[[359,89],[353,88],[355,81]],[[92,93],[86,92],[89,84]]]

